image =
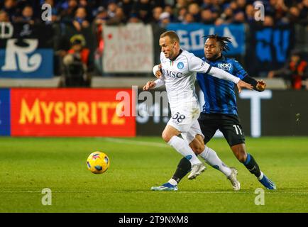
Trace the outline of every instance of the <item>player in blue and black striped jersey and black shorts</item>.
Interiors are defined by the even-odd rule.
[[[263,80],[256,81],[249,77],[238,61],[222,55],[222,52],[229,50],[228,43],[231,43],[230,38],[219,35],[207,35],[206,38],[207,40],[204,44],[205,57],[203,60],[213,67],[226,70],[234,76],[241,78],[244,82],[252,84],[253,89],[256,91],[264,91],[266,84]],[[205,137],[204,143],[207,144],[213,138],[217,129],[219,129],[238,161],[243,163],[248,171],[255,175],[266,189],[276,189],[275,183],[268,179],[260,170],[253,155],[246,151],[245,135],[238,118],[233,82],[214,78],[209,74],[197,74],[197,81],[202,89],[205,101],[202,113],[198,119]],[[198,153],[198,148],[193,148],[193,150],[195,153]],[[182,158],[172,179],[179,183],[190,169],[191,164],[189,160],[185,157]]]

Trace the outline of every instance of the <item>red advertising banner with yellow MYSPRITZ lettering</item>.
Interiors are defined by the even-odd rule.
[[[11,89],[11,135],[135,136],[131,89]]]

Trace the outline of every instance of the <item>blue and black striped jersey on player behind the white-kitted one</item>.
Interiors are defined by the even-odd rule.
[[[202,60],[205,60],[203,57]],[[243,79],[248,74],[241,64],[231,58],[222,56],[216,61],[205,60],[212,67],[225,70],[233,76]],[[212,77],[210,74],[197,74],[197,81],[204,94],[205,104],[202,112],[205,114],[238,114],[236,106],[235,84],[224,79]]]

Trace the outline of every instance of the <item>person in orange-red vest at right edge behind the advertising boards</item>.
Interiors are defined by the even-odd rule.
[[[290,61],[280,70],[268,72],[268,77],[282,77],[290,84],[289,87],[299,90],[304,88],[304,81],[308,78],[307,61],[303,59],[299,52],[293,52]]]

